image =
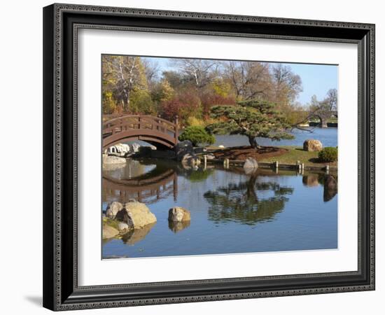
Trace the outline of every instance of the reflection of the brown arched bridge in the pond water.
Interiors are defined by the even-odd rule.
[[[134,198],[139,202],[153,203],[162,200],[169,195],[178,195],[178,176],[174,169],[167,169],[156,176],[137,176],[134,179],[113,179],[103,176],[103,200],[113,197],[120,202],[127,202]],[[109,196],[109,197],[107,197]],[[151,200],[155,197],[155,200]]]

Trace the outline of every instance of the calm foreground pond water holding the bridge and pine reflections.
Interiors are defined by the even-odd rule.
[[[151,159],[109,167],[102,211],[111,201],[133,197],[158,222],[103,241],[103,258],[337,248],[337,192],[325,190],[323,179],[269,169],[253,175],[221,167],[183,169]],[[190,223],[169,224],[174,206],[190,210]]]

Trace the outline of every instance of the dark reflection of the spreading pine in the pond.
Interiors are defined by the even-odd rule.
[[[209,220],[219,222],[237,221],[253,225],[262,221],[272,221],[281,212],[293,188],[281,187],[279,183],[257,183],[257,174],[238,184],[230,183],[216,191],[207,191],[204,198],[209,202]],[[260,200],[258,190],[270,190],[274,196]]]

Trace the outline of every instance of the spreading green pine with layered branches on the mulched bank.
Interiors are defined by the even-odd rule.
[[[207,126],[211,134],[241,134],[248,137],[252,148],[258,149],[256,137],[272,140],[293,139],[286,132],[291,126],[274,109],[275,104],[259,100],[239,102],[238,106],[213,106],[211,117],[218,120]]]

